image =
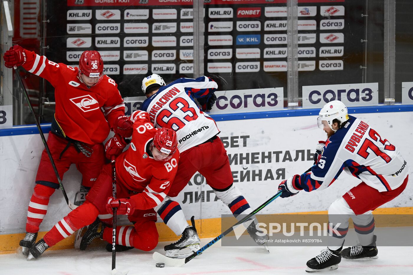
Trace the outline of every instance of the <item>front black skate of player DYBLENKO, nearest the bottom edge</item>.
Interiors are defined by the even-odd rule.
[[[341,262],[341,248],[337,250],[324,249],[321,254],[307,262],[306,272],[321,270],[336,270]]]

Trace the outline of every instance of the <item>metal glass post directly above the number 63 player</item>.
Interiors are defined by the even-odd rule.
[[[204,0],[193,1],[194,78],[204,75]]]

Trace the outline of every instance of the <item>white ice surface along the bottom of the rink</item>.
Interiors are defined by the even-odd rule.
[[[202,239],[206,244],[211,239]],[[164,253],[168,243],[159,243],[154,251]],[[306,261],[325,247],[209,247],[185,266],[156,268],[151,252],[137,249],[116,253],[116,270],[130,270],[130,275],[165,274],[308,274]],[[342,259],[335,271],[316,274],[413,274],[412,247],[378,247],[379,258],[349,261]],[[37,260],[27,261],[21,254],[0,255],[1,274],[22,275],[92,275],[110,274],[112,253],[104,248],[95,251],[75,249],[45,251]]]

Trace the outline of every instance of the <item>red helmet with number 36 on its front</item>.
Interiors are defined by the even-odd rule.
[[[102,80],[103,60],[98,51],[84,51],[82,53],[79,59],[79,77],[81,74],[92,78],[98,77],[97,83]]]

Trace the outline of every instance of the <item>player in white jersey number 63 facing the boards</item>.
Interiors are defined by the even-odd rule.
[[[236,218],[242,219],[243,214],[252,212],[247,200],[233,184],[228,155],[218,137],[220,131],[214,119],[204,113],[214,105],[217,88],[218,84],[207,76],[179,78],[168,85],[155,73],[142,80],[142,91],[147,96],[142,110],[150,114],[156,127],[176,131],[181,156],[176,177],[166,192],[168,196],[155,207],[164,223],[177,236],[182,235],[177,242],[165,246],[169,257],[185,258],[199,249],[200,239],[194,219],[189,225],[179,203],[171,199],[178,196],[197,171]],[[201,104],[201,109],[194,98]],[[257,244],[266,247],[262,240],[268,236],[256,235],[260,231],[256,229],[255,222],[250,223],[247,231]]]

